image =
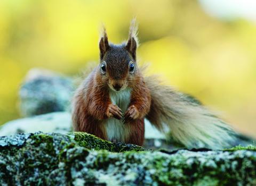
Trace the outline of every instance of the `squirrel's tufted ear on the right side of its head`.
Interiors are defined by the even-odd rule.
[[[132,55],[134,61],[136,60],[136,49],[138,47],[137,30],[138,23],[136,22],[136,18],[134,18],[130,26],[129,39],[125,46],[128,52]]]

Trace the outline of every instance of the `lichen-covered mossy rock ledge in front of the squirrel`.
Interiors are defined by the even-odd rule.
[[[153,151],[75,132],[0,137],[0,185],[255,185],[247,149]]]

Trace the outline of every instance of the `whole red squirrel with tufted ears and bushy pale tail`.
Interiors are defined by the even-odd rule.
[[[143,78],[137,65],[137,28],[131,22],[129,39],[109,43],[102,25],[99,65],[76,90],[73,128],[111,142],[142,146],[145,118],[159,131],[187,147],[202,143],[222,148],[234,130],[195,98],[164,86],[154,76]]]

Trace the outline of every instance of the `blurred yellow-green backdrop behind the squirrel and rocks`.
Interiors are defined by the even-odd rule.
[[[0,1],[0,125],[18,119],[18,90],[31,67],[75,75],[99,59],[100,20],[110,41],[139,21],[141,62],[150,73],[256,134],[256,24],[213,18],[195,0]]]

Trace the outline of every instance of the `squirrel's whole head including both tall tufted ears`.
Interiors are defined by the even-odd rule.
[[[98,72],[102,80],[114,91],[122,91],[129,84],[135,83],[135,74],[138,72],[136,62],[137,23],[131,22],[129,39],[121,45],[114,45],[108,42],[106,28],[102,25],[99,42],[100,64]]]

